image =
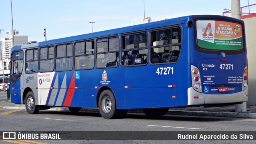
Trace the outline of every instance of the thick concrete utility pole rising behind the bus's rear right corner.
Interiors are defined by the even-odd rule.
[[[240,0],[231,0],[231,16],[232,18],[237,18],[241,20],[241,9],[240,9]],[[242,104],[235,104],[236,112],[246,112],[246,102]]]

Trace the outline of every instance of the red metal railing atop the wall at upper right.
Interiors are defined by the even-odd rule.
[[[256,15],[256,4],[251,4],[248,6],[241,7],[241,17],[248,17],[248,15]],[[229,16],[231,17],[231,10],[228,10],[226,12],[222,12],[223,16]]]

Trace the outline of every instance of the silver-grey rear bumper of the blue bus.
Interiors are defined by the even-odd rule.
[[[233,94],[204,94],[188,88],[188,106],[204,104],[227,104],[248,101],[248,86],[242,92]]]

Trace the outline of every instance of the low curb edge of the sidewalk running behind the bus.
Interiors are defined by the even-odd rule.
[[[23,104],[19,106],[0,106],[0,109],[26,110]],[[49,110],[70,111],[67,107],[50,108]],[[99,112],[98,108],[82,108],[83,112]],[[141,110],[129,110],[129,113],[143,113]],[[230,117],[230,118],[256,118],[256,113],[247,112],[204,112],[204,111],[188,111],[188,110],[169,110],[166,115],[179,116],[212,116],[212,117]]]

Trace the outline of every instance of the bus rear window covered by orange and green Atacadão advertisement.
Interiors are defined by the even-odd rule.
[[[243,48],[242,25],[218,20],[196,21],[197,44],[210,50],[240,50]]]

